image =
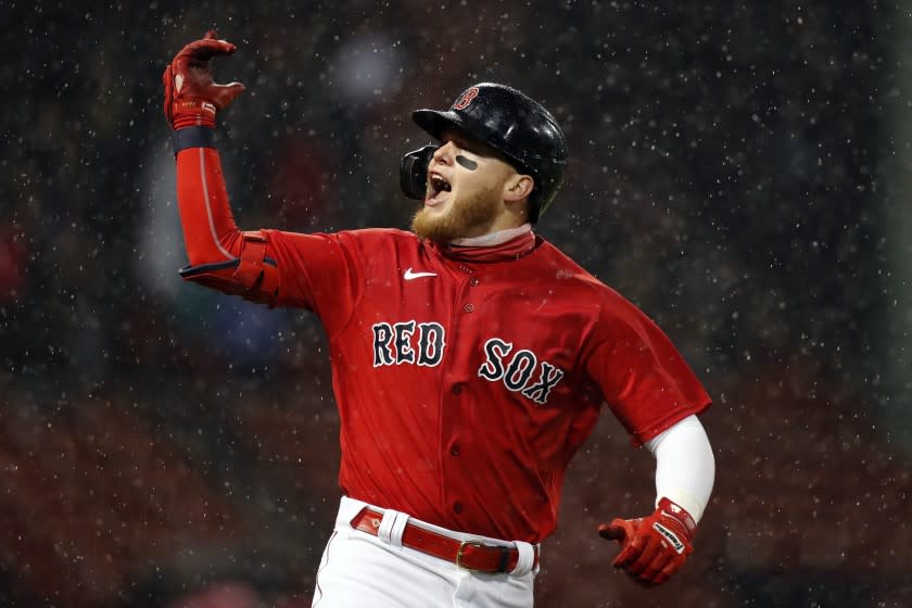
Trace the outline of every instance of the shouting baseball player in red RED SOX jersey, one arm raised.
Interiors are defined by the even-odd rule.
[[[555,118],[481,83],[418,110],[411,231],[242,231],[229,210],[208,33],[166,68],[183,279],[316,314],[340,415],[343,497],[314,606],[528,607],[567,466],[605,405],[655,454],[656,509],[598,533],[643,585],[692,553],[714,477],[710,398],[664,333],[532,227],[563,180]]]

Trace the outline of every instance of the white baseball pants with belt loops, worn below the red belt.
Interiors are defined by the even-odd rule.
[[[380,529],[387,533],[375,536],[351,527],[352,519],[366,506],[383,514],[385,524],[381,523]],[[481,541],[520,552],[512,572],[467,570],[402,546],[403,527],[391,524],[396,519],[403,521],[401,515],[342,498],[335,528],[317,571],[313,608],[531,608],[537,572],[537,567],[532,566],[532,545],[463,534],[409,518],[411,524],[458,541]]]

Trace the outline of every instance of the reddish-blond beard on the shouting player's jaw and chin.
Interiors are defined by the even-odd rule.
[[[433,211],[421,207],[411,218],[411,231],[422,239],[435,243],[446,244],[456,239],[480,235],[471,232],[490,228],[497,217],[501,201],[496,189],[483,190],[465,201],[451,201],[449,208],[441,216],[434,216]]]

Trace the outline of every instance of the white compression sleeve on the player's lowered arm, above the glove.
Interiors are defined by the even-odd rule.
[[[688,416],[646,447],[656,456],[656,504],[664,496],[699,521],[715,480],[715,459],[700,421]]]

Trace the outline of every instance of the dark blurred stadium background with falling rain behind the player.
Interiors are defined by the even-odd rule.
[[[473,81],[563,126],[536,230],[679,345],[718,474],[687,567],[639,590],[595,528],[651,510],[654,461],[606,415],[537,606],[912,605],[909,7],[246,4],[0,7],[0,604],[309,606],[325,337],[177,277],[161,73],[216,27],[245,229],[406,227],[409,113]]]

